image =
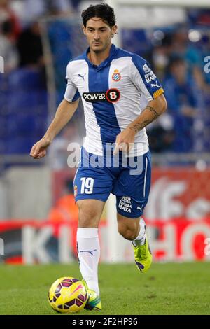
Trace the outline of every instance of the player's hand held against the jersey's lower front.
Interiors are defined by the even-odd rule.
[[[113,154],[116,155],[118,151],[129,153],[134,146],[135,134],[134,130],[131,130],[130,127],[127,127],[123,132],[120,132],[116,137],[116,147]]]

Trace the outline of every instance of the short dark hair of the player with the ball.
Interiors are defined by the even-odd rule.
[[[102,20],[110,27],[116,25],[116,15],[114,10],[107,3],[101,3],[96,6],[91,5],[87,9],[83,10],[83,25],[86,27],[87,20],[90,20],[90,18],[93,17],[102,18]]]

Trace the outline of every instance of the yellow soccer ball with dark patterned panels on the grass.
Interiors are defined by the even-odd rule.
[[[71,276],[57,279],[50,287],[48,301],[59,313],[81,311],[87,302],[87,291],[81,281]]]

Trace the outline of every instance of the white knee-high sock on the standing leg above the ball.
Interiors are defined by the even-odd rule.
[[[80,272],[87,282],[88,288],[99,295],[98,263],[100,258],[99,235],[97,228],[78,228],[78,259]]]

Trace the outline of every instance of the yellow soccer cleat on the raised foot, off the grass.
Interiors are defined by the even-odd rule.
[[[146,238],[143,246],[134,246],[134,257],[136,265],[140,272],[146,272],[152,264],[153,256],[151,254],[151,248],[148,245],[148,239]]]

